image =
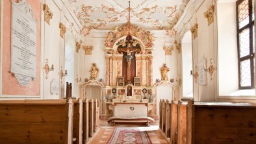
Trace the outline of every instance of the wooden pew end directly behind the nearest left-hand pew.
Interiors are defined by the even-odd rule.
[[[73,144],[83,141],[83,102],[73,99]]]

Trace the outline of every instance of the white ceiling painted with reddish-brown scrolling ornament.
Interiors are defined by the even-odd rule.
[[[146,30],[171,29],[189,0],[68,0],[83,25],[92,29],[115,29],[127,23],[131,1],[131,23]]]

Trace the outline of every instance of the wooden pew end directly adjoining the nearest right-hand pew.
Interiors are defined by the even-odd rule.
[[[186,104],[181,100],[177,104],[177,144],[186,143]]]

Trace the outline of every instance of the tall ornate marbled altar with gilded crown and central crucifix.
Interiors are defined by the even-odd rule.
[[[156,117],[152,46],[150,32],[129,22],[107,34],[102,117]]]

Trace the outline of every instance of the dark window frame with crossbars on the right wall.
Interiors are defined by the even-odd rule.
[[[241,27],[239,29],[239,19],[238,19],[238,5],[240,5],[240,3],[242,3],[243,1],[246,0],[238,0],[236,2],[236,15],[237,15],[237,54],[238,54],[238,89],[239,90],[245,90],[245,89],[252,89],[255,88],[255,84],[254,84],[254,58],[255,58],[255,53],[253,53],[253,49],[254,49],[254,45],[253,45],[253,25],[254,25],[254,19],[253,18],[253,5],[252,5],[252,1],[254,0],[248,0],[248,8],[249,8],[249,23],[247,25],[244,25],[244,27]],[[239,42],[239,34],[245,30],[245,29],[249,29],[249,40],[250,40],[250,54],[246,55],[246,56],[242,56],[240,57],[240,42]],[[241,69],[240,69],[240,62],[244,61],[244,60],[250,60],[250,69],[251,69],[251,86],[241,86]]]

